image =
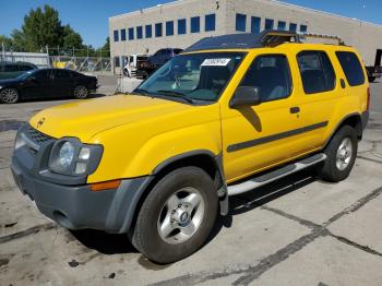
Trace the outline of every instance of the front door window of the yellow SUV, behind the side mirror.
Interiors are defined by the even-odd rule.
[[[263,103],[287,98],[291,92],[288,59],[284,55],[259,56],[248,69],[240,86],[254,86]]]

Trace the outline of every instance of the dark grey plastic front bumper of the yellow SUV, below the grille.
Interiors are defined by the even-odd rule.
[[[93,192],[89,186],[61,186],[23,171],[12,159],[12,174],[23,194],[47,217],[69,229],[93,228],[128,233],[151,177],[123,180],[118,189]]]

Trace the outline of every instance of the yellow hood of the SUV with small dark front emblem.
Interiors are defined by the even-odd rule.
[[[156,120],[190,108],[193,107],[147,96],[106,96],[45,109],[29,123],[52,138],[75,136],[86,143],[102,131],[136,121]]]

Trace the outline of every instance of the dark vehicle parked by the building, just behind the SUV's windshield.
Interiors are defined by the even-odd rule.
[[[138,64],[136,76],[147,78],[158,68],[182,51],[182,49],[175,48],[159,49],[153,56],[150,56],[146,61],[141,61]]]

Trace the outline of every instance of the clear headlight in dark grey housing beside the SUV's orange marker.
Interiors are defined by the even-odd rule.
[[[77,139],[61,139],[52,146],[49,169],[69,176],[86,176],[96,170],[102,145],[82,144]]]

